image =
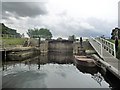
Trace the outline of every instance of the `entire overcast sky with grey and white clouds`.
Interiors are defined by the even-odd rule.
[[[2,22],[26,36],[29,28],[48,28],[55,38],[73,34],[109,37],[118,26],[119,0],[20,1],[2,2]]]

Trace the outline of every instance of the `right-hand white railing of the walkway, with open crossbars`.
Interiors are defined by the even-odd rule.
[[[111,55],[113,55],[116,58],[116,50],[115,50],[115,44],[103,39],[103,38],[96,38],[98,41],[102,43],[102,47],[108,51]]]

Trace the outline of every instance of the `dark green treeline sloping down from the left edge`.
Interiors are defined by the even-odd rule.
[[[0,23],[0,32],[2,37],[15,37],[15,38],[21,37],[21,34],[17,33],[17,30],[11,29],[5,26],[3,23]]]

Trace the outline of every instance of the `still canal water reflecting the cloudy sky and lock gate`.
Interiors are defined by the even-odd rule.
[[[109,88],[99,68],[77,65],[73,55],[39,55],[3,63],[3,88]]]

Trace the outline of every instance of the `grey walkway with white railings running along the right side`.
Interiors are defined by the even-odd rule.
[[[120,60],[116,58],[115,44],[103,38],[89,38],[89,43],[98,53],[107,68],[120,79]]]

